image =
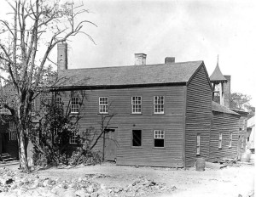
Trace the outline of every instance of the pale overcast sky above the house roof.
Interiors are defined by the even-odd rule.
[[[84,26],[96,45],[83,35],[72,38],[68,68],[133,65],[134,53],[147,53],[147,64],[164,63],[167,56],[204,60],[211,75],[219,55],[220,69],[231,75],[231,91],[251,95],[255,106],[255,2],[84,0],[90,14],[81,20],[98,26]],[[3,10],[1,5],[1,16]]]

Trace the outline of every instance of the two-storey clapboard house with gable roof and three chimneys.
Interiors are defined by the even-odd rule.
[[[96,146],[104,160],[182,167],[208,157],[212,86],[203,61],[166,58],[165,64],[146,65],[146,54],[139,53],[135,65],[67,70],[66,53],[67,44],[60,44],[60,81],[53,92],[64,106],[72,95],[72,114],[83,114],[80,130],[99,131],[102,116],[113,114]]]

